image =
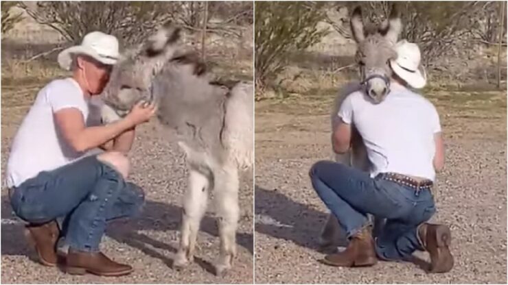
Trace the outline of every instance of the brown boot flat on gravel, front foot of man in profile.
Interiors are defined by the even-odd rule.
[[[132,272],[132,267],[109,259],[102,252],[84,252],[69,249],[65,269],[67,273],[83,275],[92,273],[102,276],[120,276]]]

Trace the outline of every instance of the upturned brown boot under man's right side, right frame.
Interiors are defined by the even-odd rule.
[[[452,234],[448,226],[424,223],[418,227],[418,237],[430,254],[430,272],[445,273],[452,270],[454,260],[448,248]]]

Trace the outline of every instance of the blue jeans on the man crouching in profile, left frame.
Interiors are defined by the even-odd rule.
[[[144,200],[139,186],[96,156],[42,171],[10,197],[16,215],[28,223],[62,221],[65,243],[78,251],[99,251],[106,222],[135,216]]]

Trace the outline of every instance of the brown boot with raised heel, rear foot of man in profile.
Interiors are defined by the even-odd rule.
[[[28,242],[37,251],[39,262],[47,267],[56,265],[56,242],[59,235],[60,230],[58,230],[56,221],[25,227],[25,236]]]

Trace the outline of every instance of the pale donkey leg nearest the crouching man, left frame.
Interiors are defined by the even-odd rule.
[[[189,166],[188,186],[183,200],[180,245],[173,263],[176,269],[182,269],[194,260],[196,237],[207,208],[209,186],[210,177]]]

